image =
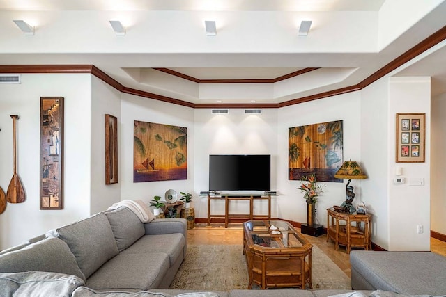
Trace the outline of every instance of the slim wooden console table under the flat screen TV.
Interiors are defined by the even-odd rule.
[[[224,200],[224,214],[211,214],[210,202],[212,200]],[[231,201],[249,201],[249,214],[230,214],[229,204]],[[268,214],[254,214],[254,201],[255,200],[268,200]],[[220,194],[211,195],[208,194],[208,225],[210,225],[211,218],[224,218],[224,227],[227,228],[230,218],[239,218],[245,220],[270,220],[271,219],[271,194]]]

